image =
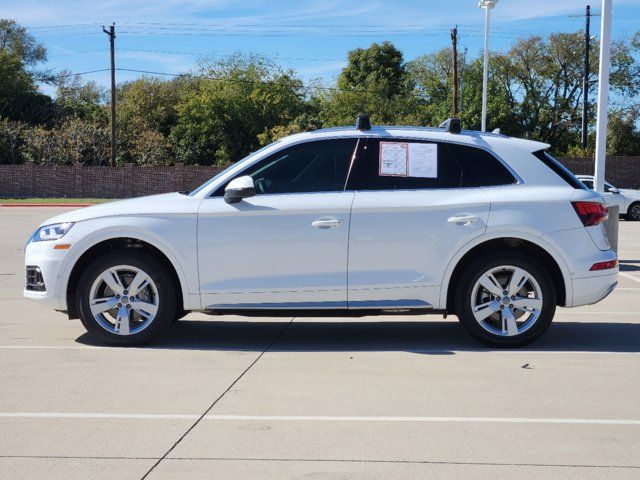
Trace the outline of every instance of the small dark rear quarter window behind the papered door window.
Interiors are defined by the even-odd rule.
[[[458,144],[451,144],[449,148],[480,186],[495,187],[518,182],[507,167],[486,150]]]

